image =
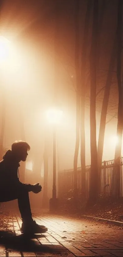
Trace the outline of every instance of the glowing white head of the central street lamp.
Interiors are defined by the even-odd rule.
[[[58,109],[49,109],[46,111],[46,117],[49,123],[51,124],[59,124],[62,118],[63,111]]]

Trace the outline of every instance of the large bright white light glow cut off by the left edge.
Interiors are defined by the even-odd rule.
[[[0,36],[0,61],[4,61],[10,54],[10,41]]]

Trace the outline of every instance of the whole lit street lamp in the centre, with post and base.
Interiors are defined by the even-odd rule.
[[[56,125],[60,123],[63,111],[50,109],[46,112],[48,122],[53,125],[53,186],[52,198],[49,200],[49,210],[56,210],[58,207],[58,198],[56,198]]]

